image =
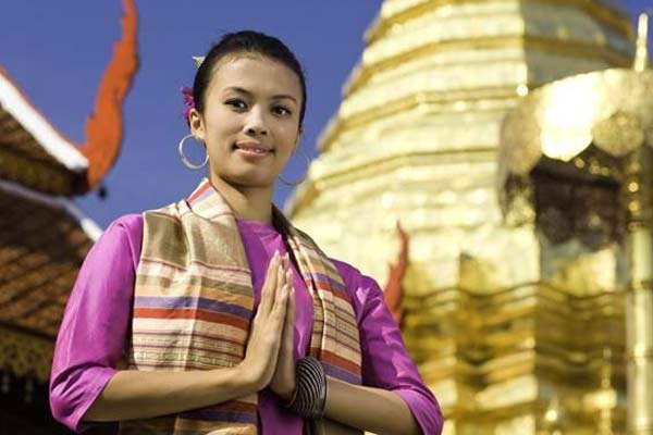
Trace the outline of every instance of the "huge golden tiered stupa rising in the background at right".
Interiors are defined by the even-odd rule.
[[[583,73],[632,67],[624,7],[386,0],[366,41],[288,211],[330,254],[382,284],[402,248],[401,223],[409,239],[402,328],[441,402],[444,433],[653,433],[653,401],[645,401],[653,396],[633,388],[653,382],[645,378],[653,373],[645,316],[636,316],[642,324],[629,326],[626,340],[626,307],[633,307],[626,295],[653,283],[634,276],[633,258],[651,260],[653,243],[632,236],[641,213],[629,209],[645,202],[640,186],[648,183],[632,167],[649,166],[624,157],[632,147],[592,145],[634,129],[639,145],[653,146],[653,125],[642,124],[653,117],[619,112],[624,98],[606,120],[575,111],[589,102],[571,104],[592,92],[601,98],[588,101],[599,104],[614,97],[609,86],[583,86],[595,80]],[[545,91],[579,74],[578,87]],[[653,101],[648,82],[615,85],[611,74],[601,80],[637,88],[632,101]],[[564,92],[569,104],[560,104]],[[558,124],[521,128],[519,116],[542,120],[551,110],[562,111]],[[624,136],[624,125],[636,127]],[[581,128],[583,146],[565,142],[580,140]],[[520,148],[530,138],[537,145]],[[637,186],[630,194],[640,199],[628,199],[623,186]],[[640,400],[634,417],[632,398]]]

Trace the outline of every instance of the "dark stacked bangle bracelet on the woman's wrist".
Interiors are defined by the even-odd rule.
[[[306,357],[295,365],[296,388],[286,405],[307,419],[321,419],[326,403],[326,375],[317,359]]]

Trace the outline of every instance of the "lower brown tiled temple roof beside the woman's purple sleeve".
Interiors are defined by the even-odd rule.
[[[0,181],[0,368],[45,381],[70,290],[101,229],[71,200],[15,183]]]

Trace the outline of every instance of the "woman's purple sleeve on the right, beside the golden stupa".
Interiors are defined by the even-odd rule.
[[[440,405],[408,355],[402,333],[385,306],[383,291],[371,277],[348,264],[335,263],[353,297],[360,334],[364,385],[396,393],[423,434],[441,434]]]

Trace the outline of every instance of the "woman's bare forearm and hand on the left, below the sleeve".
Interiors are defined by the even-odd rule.
[[[94,401],[88,421],[144,419],[221,403],[264,388],[276,368],[289,288],[281,258],[268,268],[245,359],[230,369],[193,372],[120,371]],[[279,284],[279,285],[278,285]]]

